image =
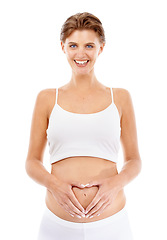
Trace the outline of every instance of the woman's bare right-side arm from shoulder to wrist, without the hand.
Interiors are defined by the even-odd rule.
[[[141,158],[138,149],[135,113],[130,93],[121,89],[121,145],[124,156],[124,166],[117,175],[118,186],[125,187],[141,171]]]

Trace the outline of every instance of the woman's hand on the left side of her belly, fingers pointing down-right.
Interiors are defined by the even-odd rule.
[[[53,194],[53,197],[56,199],[57,203],[72,217],[85,217],[85,209],[75,197],[75,194],[72,190],[73,186],[84,188],[84,186],[79,183],[70,184],[68,182],[58,180],[52,187],[51,193]]]

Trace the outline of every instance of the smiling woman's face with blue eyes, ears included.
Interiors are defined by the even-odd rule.
[[[75,30],[66,38],[65,43],[61,42],[61,46],[73,72],[89,74],[103,51],[104,43],[100,43],[93,30]]]

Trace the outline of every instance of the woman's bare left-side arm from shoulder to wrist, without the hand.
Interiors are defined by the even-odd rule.
[[[47,142],[46,129],[48,125],[47,95],[48,91],[43,90],[38,94],[36,99],[25,168],[29,177],[50,190],[51,186],[56,183],[56,179],[43,166],[43,154]]]

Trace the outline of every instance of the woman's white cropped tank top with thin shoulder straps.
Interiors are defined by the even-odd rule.
[[[114,103],[96,113],[72,113],[56,102],[49,118],[47,139],[50,163],[74,156],[91,156],[117,162],[120,148],[120,117]]]

